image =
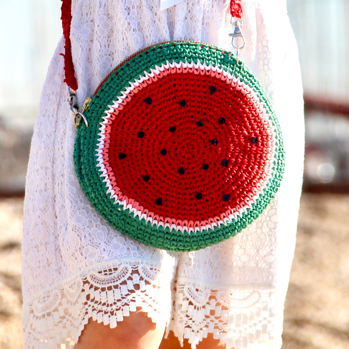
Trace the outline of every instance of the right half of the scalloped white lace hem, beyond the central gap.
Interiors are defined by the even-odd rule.
[[[270,286],[222,287],[180,279],[172,292],[176,303],[166,335],[172,330],[182,345],[188,339],[196,349],[212,333],[226,349],[281,347],[281,337],[274,334],[281,333],[282,313],[274,312]]]

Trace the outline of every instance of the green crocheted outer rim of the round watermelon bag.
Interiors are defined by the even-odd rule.
[[[105,112],[113,104],[121,92],[125,91],[130,82],[139,79],[144,72],[150,73],[155,66],[169,62],[200,61],[202,64],[211,64],[223,68],[226,72],[235,75],[256,92],[260,103],[275,128],[276,142],[275,161],[272,177],[269,179],[258,199],[241,216],[227,222],[226,225],[216,226],[203,231],[187,232],[170,228],[157,227],[144,218],[134,217],[129,209],[115,202],[107,192],[104,177],[101,177],[100,168],[97,166],[97,144]],[[116,91],[116,92],[114,92]],[[85,112],[89,126],[81,123],[76,134],[74,147],[74,165],[77,178],[91,205],[106,220],[106,222],[139,242],[168,251],[193,251],[217,244],[246,228],[265,210],[275,196],[284,171],[284,149],[279,122],[272,106],[258,80],[250,70],[241,62],[237,62],[235,55],[215,46],[193,42],[168,42],[161,43],[132,55],[105,79],[89,104]]]

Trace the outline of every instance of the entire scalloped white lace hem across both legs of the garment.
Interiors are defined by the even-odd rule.
[[[89,318],[114,328],[138,307],[158,327],[166,322],[166,335],[173,331],[181,344],[188,339],[192,349],[208,333],[227,349],[281,347],[274,333],[281,333],[282,313],[274,313],[279,307],[270,286],[222,287],[180,278],[171,287],[172,276],[147,260],[94,265],[25,302],[25,348],[73,349]]]

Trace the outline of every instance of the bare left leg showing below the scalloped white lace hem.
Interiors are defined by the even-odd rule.
[[[158,349],[165,326],[156,328],[141,308],[124,317],[115,328],[90,319],[74,349]]]

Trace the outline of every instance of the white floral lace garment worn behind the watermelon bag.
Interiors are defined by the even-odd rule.
[[[74,172],[63,39],[52,59],[32,139],[23,233],[25,349],[73,348],[92,317],[110,327],[142,307],[196,347],[208,333],[229,348],[281,347],[303,170],[303,99],[297,46],[283,0],[243,1],[240,57],[281,124],[286,168],[265,212],[237,236],[168,253],[111,229]],[[80,105],[122,59],[171,39],[232,50],[229,1],[73,0],[72,55]]]

